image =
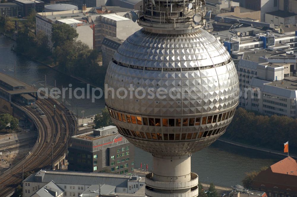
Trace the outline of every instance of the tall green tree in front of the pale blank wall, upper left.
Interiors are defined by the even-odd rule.
[[[52,25],[52,42],[53,47],[62,46],[67,41],[75,41],[78,33],[75,28],[65,23],[58,23]]]

